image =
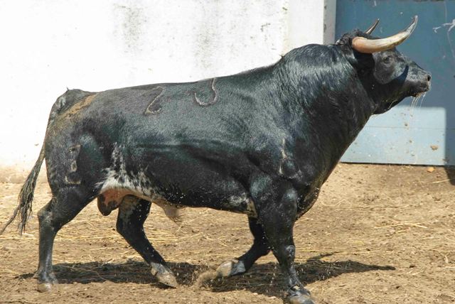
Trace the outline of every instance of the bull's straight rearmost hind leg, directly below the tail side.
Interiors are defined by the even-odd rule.
[[[40,225],[39,264],[38,271],[36,271],[38,291],[49,291],[50,287],[57,283],[52,269],[55,235],[64,224],[70,222],[90,202],[90,197],[82,192],[80,188],[62,188],[38,212]]]

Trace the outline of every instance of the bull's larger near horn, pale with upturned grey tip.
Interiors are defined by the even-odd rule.
[[[414,16],[412,23],[404,31],[382,39],[368,39],[363,37],[353,38],[353,49],[357,50],[360,53],[376,53],[382,50],[388,50],[390,48],[399,45],[405,41],[414,31],[415,26],[417,26],[417,21],[419,18]]]

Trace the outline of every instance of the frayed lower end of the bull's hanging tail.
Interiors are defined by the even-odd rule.
[[[31,203],[33,202],[33,192],[35,191],[36,180],[38,180],[38,173],[40,173],[41,164],[44,160],[44,144],[40,151],[40,156],[36,161],[31,173],[28,174],[26,182],[23,184],[21,188],[21,192],[18,195],[18,206],[13,212],[11,218],[6,222],[3,228],[0,230],[0,234],[2,234],[6,227],[11,224],[14,219],[16,219],[17,215],[21,215],[21,221],[18,223],[18,231],[20,234],[26,229],[27,219],[31,215]]]

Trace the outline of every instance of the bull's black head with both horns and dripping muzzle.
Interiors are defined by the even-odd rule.
[[[377,20],[367,31],[354,31],[337,42],[377,102],[375,114],[386,112],[405,97],[416,97],[430,88],[431,74],[395,49],[410,37],[417,20],[414,16],[410,26],[393,36],[374,38],[370,34],[378,25]]]

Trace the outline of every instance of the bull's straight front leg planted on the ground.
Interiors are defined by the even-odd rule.
[[[296,247],[292,232],[298,209],[297,191],[289,182],[272,182],[269,178],[261,178],[252,184],[252,197],[265,237],[286,277],[286,302],[314,303],[309,291],[299,281],[294,267]]]

